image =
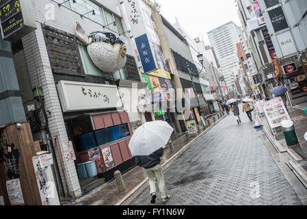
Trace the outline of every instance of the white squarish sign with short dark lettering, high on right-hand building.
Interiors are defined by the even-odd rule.
[[[282,50],[282,55],[286,56],[297,52],[291,31],[278,34],[276,38],[278,40],[278,44],[280,45],[280,49]]]

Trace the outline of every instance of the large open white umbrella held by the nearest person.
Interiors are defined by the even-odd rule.
[[[145,123],[133,133],[129,149],[134,156],[147,156],[154,153],[168,140],[174,129],[164,121]]]

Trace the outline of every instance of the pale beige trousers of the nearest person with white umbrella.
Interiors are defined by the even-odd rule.
[[[146,174],[148,175],[149,179],[150,195],[156,194],[156,183],[158,183],[159,191],[161,192],[161,198],[167,198],[168,194],[166,193],[164,173],[161,165],[158,164],[153,168],[146,169]]]

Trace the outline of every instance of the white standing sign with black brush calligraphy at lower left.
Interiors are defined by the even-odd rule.
[[[49,162],[49,164],[47,164],[46,161],[41,163],[40,161],[42,160],[42,157],[42,155],[32,157],[42,205],[60,205],[52,168],[51,165],[49,165],[51,162]]]

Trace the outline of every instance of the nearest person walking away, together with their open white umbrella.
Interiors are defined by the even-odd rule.
[[[173,131],[174,129],[164,121],[149,122],[135,130],[129,142],[129,149],[135,156],[137,166],[146,170],[152,204],[156,203],[157,198],[156,183],[158,183],[163,203],[170,199],[160,163],[163,146],[168,144]]]

